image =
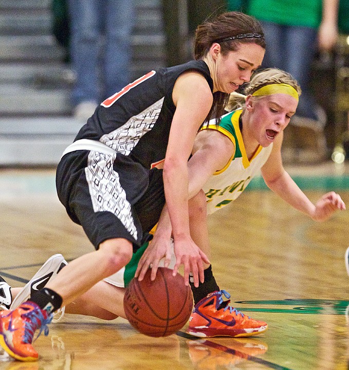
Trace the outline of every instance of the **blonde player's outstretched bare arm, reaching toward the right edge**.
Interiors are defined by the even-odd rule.
[[[308,199],[283,168],[281,143],[282,136],[275,141],[270,157],[262,168],[262,175],[269,189],[290,206],[317,221],[327,219],[336,210],[344,210],[344,202],[335,192],[324,194],[315,205]]]

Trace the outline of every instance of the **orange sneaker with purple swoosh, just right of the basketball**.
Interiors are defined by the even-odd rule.
[[[223,301],[223,295],[228,299]],[[199,301],[189,319],[188,334],[200,337],[251,337],[267,330],[268,324],[254,320],[229,306],[230,294],[215,291]]]

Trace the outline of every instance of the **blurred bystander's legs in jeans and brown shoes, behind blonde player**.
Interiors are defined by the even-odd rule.
[[[263,67],[277,67],[289,72],[300,84],[297,113],[284,132],[283,160],[287,162],[314,162],[326,156],[323,128],[324,110],[316,104],[309,89],[309,76],[316,45],[317,30],[310,27],[262,23],[266,53]]]

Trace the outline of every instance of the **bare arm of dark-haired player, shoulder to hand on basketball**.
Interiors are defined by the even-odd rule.
[[[163,183],[177,258],[173,273],[176,274],[179,265],[183,264],[185,280],[189,284],[190,271],[194,280],[199,274],[203,281],[203,260],[205,263],[208,260],[190,236],[188,159],[197,130],[211,108],[213,97],[205,78],[191,71],[183,73],[176,81],[173,101],[176,111],[163,165]]]

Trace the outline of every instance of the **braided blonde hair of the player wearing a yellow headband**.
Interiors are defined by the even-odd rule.
[[[262,71],[256,72],[252,76],[251,81],[248,82],[244,88],[245,95],[235,92],[230,94],[226,110],[230,112],[230,110],[238,108],[244,109],[247,95],[252,95],[256,90],[271,84],[287,84],[297,91],[298,96],[302,94],[302,90],[298,82],[289,73],[278,68],[266,68]],[[263,97],[254,97],[254,99],[260,98]]]

